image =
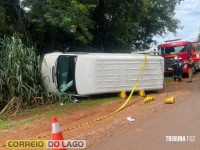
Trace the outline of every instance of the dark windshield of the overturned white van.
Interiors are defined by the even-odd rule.
[[[57,83],[60,92],[76,92],[75,88],[76,56],[61,55],[57,62]]]

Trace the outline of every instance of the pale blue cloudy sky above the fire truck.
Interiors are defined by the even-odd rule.
[[[154,37],[158,44],[165,40],[183,39],[196,41],[200,33],[200,0],[184,0],[176,6],[175,18],[180,20],[182,29],[177,34],[168,34],[163,37]]]

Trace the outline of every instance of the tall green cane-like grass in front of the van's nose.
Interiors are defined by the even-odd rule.
[[[40,73],[41,60],[34,47],[13,36],[0,41],[0,106],[31,105],[46,97]],[[11,101],[12,100],[12,101]]]

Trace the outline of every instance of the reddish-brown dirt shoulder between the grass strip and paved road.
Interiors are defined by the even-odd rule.
[[[56,115],[61,129],[64,130],[65,139],[84,139],[87,146],[108,139],[119,133],[120,130],[128,126],[137,126],[144,119],[151,118],[154,114],[162,113],[168,107],[176,107],[182,101],[187,100],[191,94],[199,92],[200,73],[196,73],[193,82],[187,83],[187,78],[182,82],[167,82],[165,88],[158,92],[148,92],[148,96],[153,96],[154,101],[144,103],[144,98],[133,96],[125,109],[119,113],[95,123],[84,125],[75,129],[68,128],[92,121],[98,117],[105,116],[121,106],[124,100],[120,99],[109,105],[101,105],[88,109],[76,110],[69,115]],[[164,104],[165,99],[174,96],[176,103],[173,105]],[[127,117],[133,117],[135,122],[128,122]],[[19,118],[16,118],[19,119]],[[51,118],[35,120],[25,126],[17,124],[14,127],[0,132],[0,145],[6,140],[14,139],[46,139],[51,140]],[[43,138],[40,138],[43,137]],[[1,148],[0,148],[1,149]]]

